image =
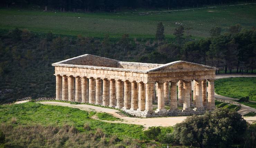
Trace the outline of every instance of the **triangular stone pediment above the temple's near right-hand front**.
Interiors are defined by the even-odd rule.
[[[194,70],[194,69],[206,69],[206,68],[215,68],[215,67],[186,62],[186,61],[175,61],[175,62],[167,63],[164,65],[152,68],[148,71]]]

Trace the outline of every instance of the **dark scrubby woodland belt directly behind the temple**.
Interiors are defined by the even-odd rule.
[[[218,27],[211,37],[192,40],[184,28],[175,29],[173,41],[164,39],[164,27],[157,26],[155,40],[130,39],[124,34],[118,41],[78,36],[33,33],[28,30],[2,31],[0,36],[1,102],[32,96],[55,96],[52,63],[82,54],[93,54],[120,61],[169,63],[184,60],[216,66],[219,72],[251,73],[256,68],[256,31],[230,27],[220,35]],[[217,72],[218,73],[218,72]]]

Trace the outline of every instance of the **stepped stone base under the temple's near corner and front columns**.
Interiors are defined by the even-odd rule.
[[[148,118],[148,117],[164,117],[164,116],[169,116],[169,117],[175,117],[175,116],[191,116],[191,115],[202,115],[206,112],[205,111],[194,111],[190,110],[189,112],[182,112],[182,110],[166,110],[165,113],[148,113],[146,111],[138,111],[138,110],[130,110],[130,109],[122,109],[124,112],[141,117],[141,118]]]

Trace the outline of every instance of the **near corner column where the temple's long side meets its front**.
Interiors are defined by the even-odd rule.
[[[145,104],[145,112],[152,113],[153,112],[153,105],[152,105],[152,98],[154,95],[154,85],[155,83],[146,83],[146,104]]]

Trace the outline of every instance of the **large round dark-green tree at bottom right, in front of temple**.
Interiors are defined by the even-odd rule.
[[[239,142],[246,128],[246,120],[240,114],[218,108],[201,116],[187,117],[176,124],[173,134],[183,145],[218,148]]]

